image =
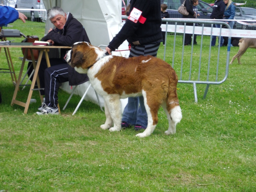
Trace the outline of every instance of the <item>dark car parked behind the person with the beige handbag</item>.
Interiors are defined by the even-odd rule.
[[[183,2],[184,0],[161,0],[161,4],[167,4],[167,11],[169,13],[170,18],[182,18],[182,14],[178,12],[178,8]],[[212,9],[212,6],[210,6],[208,3],[205,3],[202,0],[198,1],[197,10],[198,13],[200,14],[200,19],[210,19]],[[182,23],[178,22],[178,25],[182,25]],[[211,27],[210,24],[204,26]]]

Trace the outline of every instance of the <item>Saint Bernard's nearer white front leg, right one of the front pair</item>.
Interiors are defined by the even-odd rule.
[[[120,95],[110,94],[104,99],[106,100],[110,116],[114,121],[114,126],[111,127],[109,131],[120,131],[122,120]]]

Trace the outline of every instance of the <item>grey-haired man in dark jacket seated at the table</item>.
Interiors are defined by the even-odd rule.
[[[90,42],[83,25],[73,18],[71,13],[65,13],[60,7],[52,7],[47,11],[48,19],[56,28],[51,28],[42,41],[48,41],[54,45],[72,46],[76,42]],[[51,67],[47,68],[46,60],[41,61],[38,71],[41,95],[45,100],[38,108],[38,115],[59,114],[58,89],[60,83],[69,82],[69,85],[78,85],[88,81],[86,74],[79,74],[64,60],[68,49],[60,50],[60,58],[50,59]]]

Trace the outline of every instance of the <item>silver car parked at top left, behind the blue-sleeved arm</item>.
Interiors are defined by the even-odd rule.
[[[20,9],[43,9],[43,0],[6,0],[8,6]],[[41,21],[42,11],[19,11],[30,18],[31,21]]]

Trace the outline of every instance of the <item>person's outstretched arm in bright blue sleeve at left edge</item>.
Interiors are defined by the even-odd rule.
[[[22,20],[23,23],[28,19],[23,13],[18,12],[16,9],[9,6],[0,6],[0,27],[9,23],[13,23],[17,19]],[[0,92],[0,103],[2,102],[2,96]]]

